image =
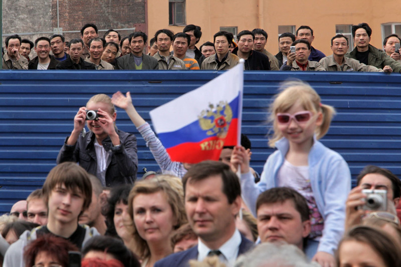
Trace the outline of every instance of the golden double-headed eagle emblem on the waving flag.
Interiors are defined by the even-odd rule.
[[[233,119],[233,111],[227,101],[219,104],[209,104],[209,109],[203,110],[198,115],[198,121],[202,130],[208,131],[207,135],[217,135],[225,138]]]

